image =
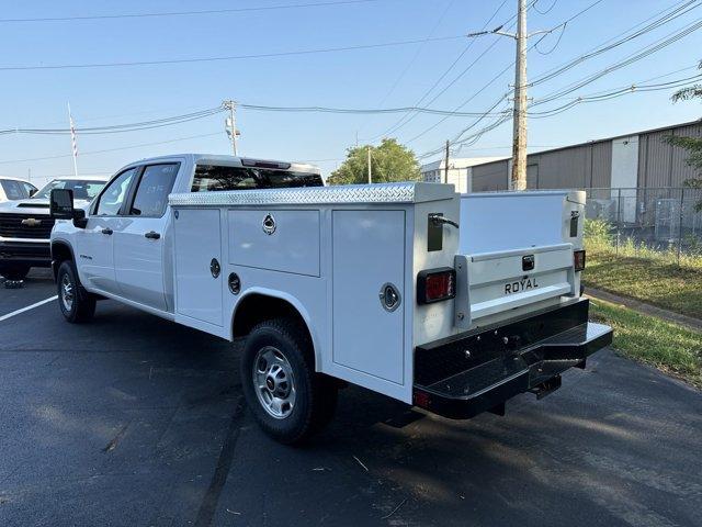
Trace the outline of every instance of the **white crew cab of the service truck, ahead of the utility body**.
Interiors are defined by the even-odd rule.
[[[309,165],[230,156],[184,154],[127,165],[86,208],[84,217],[57,222],[54,274],[70,258],[87,290],[172,318],[169,194],[321,184],[319,170]]]

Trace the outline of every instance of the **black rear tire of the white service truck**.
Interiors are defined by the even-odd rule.
[[[295,389],[294,404],[287,405],[286,415],[278,417],[270,413],[275,408],[269,411],[263,403],[265,397],[273,397],[276,392],[262,385],[259,389],[259,383],[254,380],[257,374],[268,375],[265,384],[270,385],[271,374],[264,372],[270,370],[272,361],[267,361],[264,356],[271,352],[278,357],[276,360],[280,359],[280,354],[286,361],[286,366],[284,362],[282,366],[290,370],[288,377],[283,375],[281,385],[285,385],[288,379],[292,379],[290,386]],[[338,388],[332,379],[315,372],[309,336],[294,319],[276,318],[262,322],[251,330],[241,356],[241,385],[247,404],[258,424],[268,435],[285,445],[302,444],[324,428],[331,421],[337,405]],[[279,390],[279,386],[275,386],[275,390]],[[279,399],[281,400],[290,401],[290,396]],[[281,406],[283,414],[285,404]]]

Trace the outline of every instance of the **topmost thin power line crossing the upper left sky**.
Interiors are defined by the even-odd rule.
[[[352,5],[360,3],[375,3],[384,0],[338,0],[328,2],[310,2],[310,3],[288,3],[256,8],[230,8],[230,9],[206,9],[201,11],[165,11],[165,12],[151,12],[151,13],[121,13],[121,14],[94,14],[94,15],[78,15],[78,16],[42,16],[32,19],[0,19],[0,24],[9,23],[29,23],[29,22],[76,22],[83,20],[115,20],[115,19],[145,19],[145,18],[160,18],[160,16],[191,16],[191,15],[204,15],[204,14],[226,14],[226,13],[247,13],[256,11],[276,11],[276,10],[290,10],[290,9],[306,9],[306,8],[326,8],[335,5]]]

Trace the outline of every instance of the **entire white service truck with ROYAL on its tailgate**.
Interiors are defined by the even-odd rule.
[[[247,336],[247,402],[287,444],[331,418],[346,383],[501,414],[611,341],[580,298],[584,192],[321,184],[310,166],[189,154],[128,165],[87,210],[55,190],[60,310],[84,322],[109,298]]]

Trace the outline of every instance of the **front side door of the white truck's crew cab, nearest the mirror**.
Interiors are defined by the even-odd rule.
[[[120,294],[114,273],[114,233],[120,229],[120,211],[136,176],[136,168],[117,175],[100,193],[88,214],[86,228],[76,233],[76,266],[90,290]]]

